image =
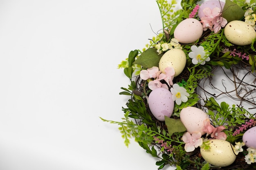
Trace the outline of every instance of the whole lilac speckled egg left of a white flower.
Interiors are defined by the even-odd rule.
[[[154,89],[148,96],[148,106],[159,121],[164,121],[164,116],[171,117],[174,108],[171,92],[162,87]]]

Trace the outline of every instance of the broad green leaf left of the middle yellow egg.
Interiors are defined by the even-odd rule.
[[[139,64],[143,68],[152,68],[153,66],[158,67],[158,63],[162,55],[158,55],[157,49],[150,48],[142,52],[141,55],[133,62],[133,64]]]

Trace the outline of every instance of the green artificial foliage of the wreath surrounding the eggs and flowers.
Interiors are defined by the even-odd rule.
[[[156,45],[161,42],[171,42],[172,38],[174,38],[173,33],[176,26],[182,20],[189,18],[189,14],[199,1],[182,0],[182,9],[177,11],[173,11],[175,4],[177,4],[175,0],[170,3],[167,0],[157,0],[156,2],[162,19],[162,33],[151,38],[144,49],[130,51],[126,60],[118,65],[118,68],[124,68],[124,74],[130,79],[128,87],[121,87],[122,91],[119,93],[120,95],[130,96],[126,107],[122,107],[124,117],[122,121],[101,119],[111,124],[119,125],[121,136],[124,138],[124,143],[127,147],[130,144],[130,139],[133,138],[148,154],[157,157],[159,159],[156,162],[158,169],[171,165],[176,166],[177,170],[209,170],[213,167],[200,157],[198,148],[190,154],[184,150],[185,143],[182,141],[182,135],[186,128],[180,121],[180,111],[188,106],[203,108],[209,115],[213,126],[225,127],[223,132],[227,135],[227,141],[233,144],[234,142],[242,141],[243,133],[236,136],[233,133],[249,119],[255,119],[255,115],[241,106],[234,104],[230,106],[225,101],[219,104],[214,96],[202,99],[197,93],[197,88],[203,79],[212,79],[216,67],[231,69],[234,65],[242,63],[246,66],[249,65],[249,72],[254,73],[256,67],[254,42],[250,46],[235,46],[227,40],[224,30],[221,29],[218,33],[213,33],[213,31],[209,30],[205,31],[205,35],[199,40],[190,44],[182,44],[182,50],[187,59],[186,67],[183,71],[185,74],[175,77],[173,82],[186,89],[189,94],[188,100],[180,105],[175,104],[172,116],[165,117],[164,122],[157,121],[150,113],[147,104],[148,95],[152,90],[148,88],[147,80],[140,79],[139,73],[141,70],[158,66],[163,53],[157,53]],[[256,0],[250,0],[250,2],[245,2],[245,0],[226,0],[223,15],[228,20],[242,19],[244,11],[249,7],[254,8],[255,6]],[[227,12],[226,9],[231,7],[231,11],[236,11],[236,15],[233,15],[233,12]],[[194,44],[200,44],[204,47],[207,55],[211,57],[209,62],[204,65],[194,65],[191,62],[191,58],[188,56],[191,52],[191,46]],[[242,57],[231,55],[230,51],[223,52],[225,48],[243,51],[249,54],[249,60],[244,62]],[[209,141],[205,141],[201,148],[209,148]],[[245,155],[246,153],[243,152],[242,154]],[[214,168],[222,170],[218,167]],[[239,168],[231,169],[238,170]]]

